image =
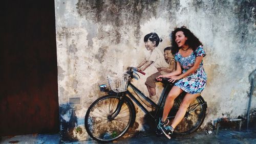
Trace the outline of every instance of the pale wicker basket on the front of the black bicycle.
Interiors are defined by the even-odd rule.
[[[129,78],[130,78],[130,75],[127,73],[123,73],[123,76],[120,76],[120,77],[108,76],[108,81],[109,81],[111,90],[115,92],[126,91]]]

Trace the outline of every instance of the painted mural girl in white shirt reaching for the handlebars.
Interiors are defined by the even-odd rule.
[[[164,61],[164,56],[162,52],[158,49],[159,42],[162,41],[158,37],[156,33],[150,33],[145,35],[144,42],[145,47],[148,51],[150,51],[150,55],[146,57],[138,66],[137,68],[144,71],[148,66],[151,64],[154,64],[154,66],[158,69],[158,72],[151,75],[147,78],[145,85],[147,87],[148,93],[150,94],[150,98],[156,102],[158,99],[156,97],[156,80],[155,78],[167,74],[164,70],[162,70],[165,67],[169,67],[168,63]]]

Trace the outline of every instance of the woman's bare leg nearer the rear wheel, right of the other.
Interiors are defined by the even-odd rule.
[[[199,95],[200,93],[197,93],[197,94],[187,93],[185,95],[182,103],[180,104],[180,108],[175,115],[174,121],[171,125],[174,129],[181,122],[182,118],[185,116],[187,108],[189,107],[190,103],[193,102]]]

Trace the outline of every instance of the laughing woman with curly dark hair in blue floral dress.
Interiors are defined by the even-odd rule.
[[[172,32],[172,53],[177,62],[176,71],[161,75],[159,78],[169,78],[169,82],[175,83],[170,90],[164,104],[163,116],[159,118],[157,134],[164,133],[170,138],[176,126],[181,122],[186,110],[202,92],[206,85],[207,77],[203,68],[203,57],[206,55],[203,44],[186,27],[177,28]],[[174,105],[174,100],[185,91],[186,95],[174,118],[168,126],[167,115]]]

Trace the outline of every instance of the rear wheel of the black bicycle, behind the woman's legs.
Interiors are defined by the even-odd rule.
[[[177,113],[180,104],[182,102],[181,97],[178,97],[175,100],[175,104],[172,108],[175,113]],[[177,135],[188,135],[197,131],[203,124],[205,115],[206,115],[207,104],[200,95],[197,97],[194,102],[190,104],[190,107],[187,109],[184,118],[181,120],[179,125],[175,128],[174,134]],[[172,111],[171,111],[172,112]],[[190,112],[190,113],[189,113]],[[169,124],[172,124],[171,122]]]

